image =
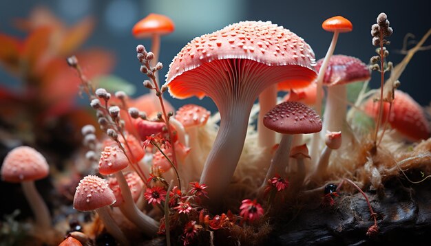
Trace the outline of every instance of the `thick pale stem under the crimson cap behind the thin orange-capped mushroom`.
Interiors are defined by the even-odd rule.
[[[346,120],[346,98],[345,85],[328,87],[321,135],[324,136],[326,131],[342,131],[344,120]]]

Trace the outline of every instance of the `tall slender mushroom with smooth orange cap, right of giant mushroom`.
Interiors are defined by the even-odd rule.
[[[330,56],[333,55],[335,50],[335,45],[337,45],[338,34],[340,32],[351,32],[353,30],[352,23],[344,18],[343,16],[334,16],[329,19],[326,19],[322,23],[322,28],[327,32],[333,32],[333,40],[330,42],[328,52],[326,52],[326,56],[324,61],[322,62],[322,66],[320,67],[319,74],[317,75],[317,94],[316,94],[316,105],[315,109],[317,114],[322,115],[322,85],[325,76],[326,67],[328,66]],[[317,155],[319,154],[319,134],[313,135],[313,139],[311,141],[311,159],[317,159]]]

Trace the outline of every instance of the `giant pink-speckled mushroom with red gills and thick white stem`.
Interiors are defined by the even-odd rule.
[[[313,51],[289,30],[244,21],[188,43],[169,65],[174,98],[209,96],[220,111],[220,128],[200,179],[211,198],[229,184],[244,146],[253,102],[278,82],[308,85],[316,76]]]

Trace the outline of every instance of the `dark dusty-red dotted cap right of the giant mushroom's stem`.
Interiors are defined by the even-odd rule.
[[[264,126],[282,134],[317,133],[322,120],[301,102],[282,102],[264,115]]]

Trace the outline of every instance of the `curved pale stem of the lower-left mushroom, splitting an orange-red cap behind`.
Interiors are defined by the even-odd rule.
[[[132,198],[132,193],[130,192],[129,185],[123,175],[123,173],[116,172],[115,177],[118,181],[118,186],[120,186],[121,195],[123,196],[124,203],[120,205],[120,210],[126,216],[129,221],[132,221],[138,228],[144,232],[147,236],[154,236],[158,232],[158,222],[152,219],[147,214],[136,207],[134,200]]]

